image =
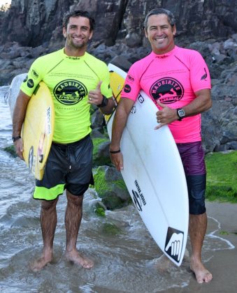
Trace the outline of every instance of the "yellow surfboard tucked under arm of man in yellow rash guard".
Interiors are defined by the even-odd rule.
[[[26,74],[17,75],[10,85],[8,103],[12,117],[20,84],[25,77]],[[40,82],[27,105],[21,133],[24,144],[24,161],[38,180],[43,178],[45,163],[52,144],[54,127],[55,110],[50,90],[44,82]]]

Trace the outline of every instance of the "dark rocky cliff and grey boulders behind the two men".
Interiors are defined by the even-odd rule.
[[[64,46],[62,17],[89,10],[96,29],[89,52],[124,70],[150,52],[143,19],[152,8],[171,10],[176,43],[199,50],[210,68],[213,108],[203,114],[206,151],[237,149],[236,0],[12,0],[0,10],[0,85],[27,72],[36,57]]]

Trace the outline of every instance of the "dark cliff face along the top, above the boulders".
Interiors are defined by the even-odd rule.
[[[62,17],[69,9],[89,10],[96,19],[94,40],[115,45],[125,39],[132,47],[143,43],[145,14],[155,7],[171,10],[177,18],[178,38],[229,38],[236,31],[236,0],[12,0],[1,12],[0,43],[36,47],[62,41]],[[56,44],[56,45],[57,45]]]

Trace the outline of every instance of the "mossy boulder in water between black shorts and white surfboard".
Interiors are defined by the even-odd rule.
[[[101,166],[94,174],[94,188],[107,209],[120,209],[131,203],[131,197],[120,172]]]

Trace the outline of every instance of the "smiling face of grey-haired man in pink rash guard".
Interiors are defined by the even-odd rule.
[[[175,25],[172,27],[165,14],[150,15],[148,25],[145,28],[145,36],[148,38],[152,51],[155,54],[165,54],[173,50],[175,46]]]

